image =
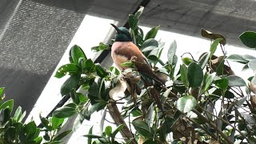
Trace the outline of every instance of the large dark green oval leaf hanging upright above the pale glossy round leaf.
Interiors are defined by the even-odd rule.
[[[190,83],[190,87],[196,88],[201,85],[203,80],[203,72],[201,67],[195,63],[191,62],[187,68],[187,79]]]

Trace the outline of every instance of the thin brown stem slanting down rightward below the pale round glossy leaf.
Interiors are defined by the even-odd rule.
[[[199,118],[202,118],[204,121],[206,121],[210,126],[212,126],[214,128],[214,130],[218,131],[218,134],[220,134],[222,136],[222,138],[224,138],[226,140],[227,143],[232,144],[233,142],[230,140],[230,138],[228,138],[226,136],[226,134],[224,134],[222,132],[222,130],[218,129],[218,126],[216,126],[213,122],[210,122],[207,118],[205,118],[204,116],[202,116],[201,113],[198,112],[198,110],[192,110],[195,114],[198,115]]]

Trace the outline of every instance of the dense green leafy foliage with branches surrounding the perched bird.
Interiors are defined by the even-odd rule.
[[[94,134],[91,127],[84,135],[88,143],[256,142],[256,77],[251,76],[245,81],[234,74],[229,64],[230,61],[239,62],[245,65],[243,70],[255,71],[256,58],[249,54],[227,55],[224,47],[226,38],[202,30],[202,37],[210,39],[208,52],[202,53],[198,60],[187,53],[190,57],[182,55],[182,63],[178,63],[180,57],[175,54],[177,43],[174,41],[169,46],[165,61],[161,59],[165,42],[154,39],[159,26],[146,34],[138,26],[142,11],[143,8],[129,15],[130,34],[155,73],[166,79],[166,86],[158,87],[164,111],[158,109],[154,98],[150,96],[148,90],[152,87],[143,85],[140,74],[133,67],[133,60],[123,63],[123,66],[130,66],[130,69],[119,71],[114,66],[106,69],[87,58],[82,48],[73,46],[70,50],[70,63],[58,68],[55,74],[56,78],[70,75],[62,85],[61,94],[70,95],[72,102],[55,110],[52,118],[41,117],[43,128],[38,128],[33,121],[22,124],[25,114],[22,114],[20,107],[11,117],[12,100],[2,103],[2,143],[40,143],[40,130],[45,131],[43,138],[46,141],[59,143],[61,138],[70,133],[68,130],[56,135],[65,118],[78,114],[78,121],[74,123],[75,130],[99,110],[105,111],[103,117],[106,111],[109,112],[118,127],[112,130],[111,126],[105,126],[101,135]],[[239,38],[246,46],[255,48],[255,35],[248,31]],[[113,42],[101,42],[92,50],[110,49]],[[214,55],[218,48],[222,50],[220,56]],[[127,81],[142,90],[137,95],[136,105],[126,90]],[[86,90],[86,94],[79,93],[78,88]],[[117,108],[120,104],[122,110]],[[115,138],[119,131],[125,141]]]

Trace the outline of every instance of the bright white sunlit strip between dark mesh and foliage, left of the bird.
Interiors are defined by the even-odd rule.
[[[69,63],[69,51],[71,46],[74,46],[74,44],[80,46],[82,50],[84,50],[87,58],[94,58],[95,53],[92,52],[90,48],[93,46],[98,46],[98,43],[102,42],[106,38],[106,35],[109,33],[111,28],[110,23],[113,22],[114,21],[110,19],[86,15],[81,26],[79,26],[78,31],[74,35],[74,38],[70,42],[70,46],[68,46],[66,52],[62,56],[61,61],[58,63],[57,68]],[[66,76],[60,79],[55,78],[55,72],[56,70],[54,70],[49,82],[34,105],[34,109],[31,111],[27,121],[33,118],[35,122],[39,124],[40,119],[38,115],[41,113],[42,116],[46,117],[46,115],[50,113],[50,110],[52,110],[54,106],[56,106],[56,104],[62,99],[60,88],[62,83],[65,82],[66,78],[68,77]]]

